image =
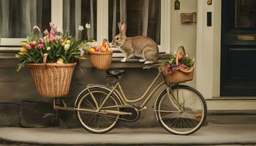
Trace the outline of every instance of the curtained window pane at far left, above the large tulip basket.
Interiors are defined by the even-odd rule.
[[[0,0],[1,37],[26,37],[42,26],[42,0]]]

